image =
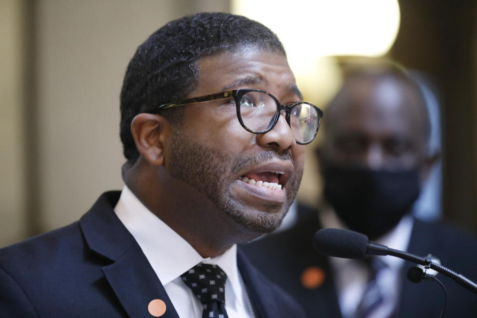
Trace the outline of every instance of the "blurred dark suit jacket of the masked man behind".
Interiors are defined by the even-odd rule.
[[[313,238],[320,229],[318,212],[299,207],[299,222],[288,231],[272,234],[244,244],[249,260],[292,294],[309,317],[340,318],[337,292],[328,257],[316,252]],[[393,246],[389,246],[393,247]],[[415,220],[408,252],[438,257],[441,264],[477,282],[477,240],[454,229]],[[393,256],[388,256],[393,257]],[[401,293],[397,305],[399,318],[438,318],[444,305],[444,291],[437,282],[412,283],[406,278],[407,269],[415,264],[405,262],[401,273]],[[312,289],[301,283],[302,273],[311,267],[324,272],[323,283]],[[445,317],[477,317],[477,294],[438,274],[448,291]]]

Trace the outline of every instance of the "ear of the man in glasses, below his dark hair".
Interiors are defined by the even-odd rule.
[[[141,113],[131,123],[131,133],[138,152],[150,164],[164,164],[164,145],[170,137],[170,123],[156,114]]]

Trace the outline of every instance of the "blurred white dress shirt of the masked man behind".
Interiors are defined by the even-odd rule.
[[[320,221],[325,228],[346,229],[334,211],[330,209],[320,213]],[[390,233],[374,242],[395,249],[407,250],[413,222],[410,215],[404,216]],[[381,318],[388,317],[397,305],[402,279],[401,267],[404,260],[393,256],[376,257],[379,257],[387,265],[376,277],[384,302],[372,317]],[[341,314],[344,318],[352,317],[365,292],[368,270],[362,261],[355,259],[330,257],[330,263],[334,272]]]

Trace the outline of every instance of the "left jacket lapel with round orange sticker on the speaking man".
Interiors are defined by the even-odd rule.
[[[164,287],[136,240],[114,213],[120,192],[104,193],[80,220],[79,226],[92,252],[111,260],[102,271],[130,317],[152,317],[148,305],[160,299],[163,318],[179,318]]]

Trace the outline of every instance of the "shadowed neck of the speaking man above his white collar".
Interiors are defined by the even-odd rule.
[[[156,181],[158,174],[161,182]],[[124,181],[152,213],[202,257],[216,257],[232,245],[260,235],[237,225],[197,189],[166,172],[133,166],[124,174]]]

